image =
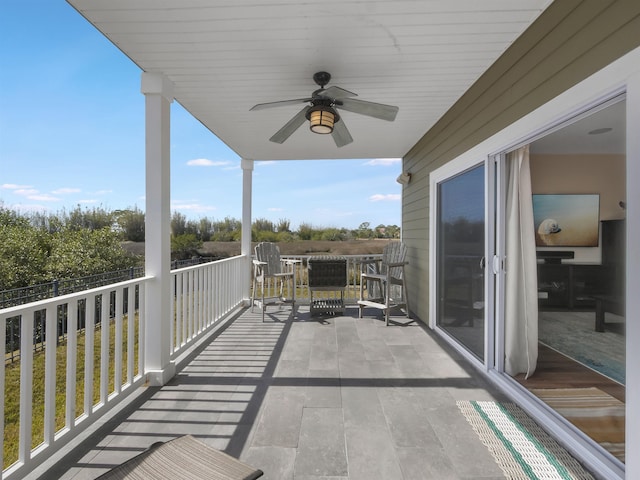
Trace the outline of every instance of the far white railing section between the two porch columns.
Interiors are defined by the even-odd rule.
[[[242,304],[248,268],[237,256],[171,272],[172,358]]]

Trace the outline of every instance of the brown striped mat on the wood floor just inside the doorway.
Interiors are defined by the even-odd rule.
[[[536,397],[624,462],[625,405],[599,388],[534,388]]]

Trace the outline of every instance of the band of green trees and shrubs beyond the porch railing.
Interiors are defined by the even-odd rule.
[[[198,255],[204,242],[240,241],[241,231],[242,223],[235,218],[193,220],[174,212],[172,258]],[[251,225],[251,237],[254,242],[399,238],[400,228],[363,222],[350,230],[303,223],[293,230],[289,220],[258,218]],[[140,266],[143,259],[122,248],[122,242],[144,238],[145,215],[137,207],[111,211],[77,206],[56,213],[20,213],[0,203],[0,291]]]

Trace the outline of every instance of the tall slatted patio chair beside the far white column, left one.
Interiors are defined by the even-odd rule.
[[[275,243],[261,242],[256,245],[253,260],[253,288],[251,290],[251,311],[257,303],[262,309],[262,321],[269,305],[290,303],[295,313],[296,303],[296,270],[295,264],[300,260],[280,258],[280,249]],[[289,297],[285,297],[284,285],[288,283]],[[257,288],[260,285],[260,297]]]

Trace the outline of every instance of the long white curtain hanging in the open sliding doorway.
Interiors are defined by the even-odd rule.
[[[528,378],[538,361],[538,274],[529,145],[507,154],[505,371]]]

